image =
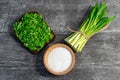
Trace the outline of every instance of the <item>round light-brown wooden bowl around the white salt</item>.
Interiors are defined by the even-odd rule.
[[[52,51],[54,48],[57,48],[57,47],[63,47],[63,48],[66,48],[68,51],[70,51],[71,53],[71,56],[72,56],[72,62],[69,66],[68,69],[64,70],[63,72],[56,72],[54,70],[52,70],[49,65],[48,65],[48,55],[50,53],[50,51]],[[70,47],[68,47],[67,45],[65,44],[60,44],[60,43],[57,43],[57,44],[54,44],[52,46],[50,46],[46,51],[45,51],[45,54],[44,54],[44,65],[45,65],[45,68],[52,74],[54,75],[65,75],[67,74],[68,72],[70,72],[72,70],[72,68],[74,67],[75,65],[75,54],[74,52],[72,51],[72,49]],[[64,66],[64,65],[63,65]]]

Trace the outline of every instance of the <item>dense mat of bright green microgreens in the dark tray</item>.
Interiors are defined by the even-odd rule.
[[[38,13],[26,13],[13,24],[13,30],[24,46],[32,51],[41,50],[54,38],[50,27]]]

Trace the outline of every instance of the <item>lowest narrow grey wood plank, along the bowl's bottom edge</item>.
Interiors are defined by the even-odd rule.
[[[41,74],[43,76],[41,76]],[[1,80],[119,80],[119,69],[73,69],[65,76],[53,76],[42,69],[2,69]]]

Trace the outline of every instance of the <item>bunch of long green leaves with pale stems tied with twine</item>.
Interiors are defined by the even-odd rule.
[[[98,3],[92,7],[90,14],[82,22],[80,29],[65,38],[65,41],[76,51],[82,51],[91,36],[103,30],[115,16],[108,17],[105,3]],[[84,33],[84,34],[82,34]]]

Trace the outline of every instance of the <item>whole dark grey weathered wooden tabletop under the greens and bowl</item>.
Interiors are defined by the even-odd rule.
[[[66,26],[78,28],[90,5],[106,2],[116,19],[93,36],[76,54],[76,65],[65,76],[53,76],[43,65],[45,49],[64,43]],[[32,55],[12,37],[12,24],[28,11],[40,12],[56,34],[54,42]],[[120,0],[0,0],[0,80],[120,80]]]

